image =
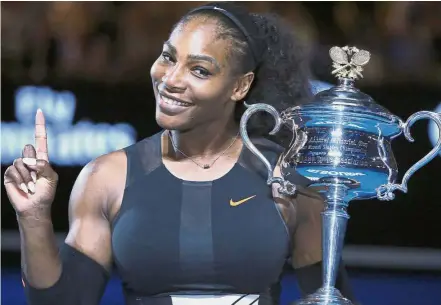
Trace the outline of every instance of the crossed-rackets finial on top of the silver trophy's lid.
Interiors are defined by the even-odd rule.
[[[363,66],[371,59],[371,53],[366,50],[359,50],[356,47],[345,46],[332,47],[329,50],[329,56],[333,60],[332,67],[338,78],[358,79],[362,78]],[[350,59],[349,59],[350,58]]]

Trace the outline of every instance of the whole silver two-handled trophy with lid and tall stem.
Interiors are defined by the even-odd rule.
[[[363,77],[363,67],[371,56],[368,51],[332,47],[329,54],[333,60],[332,74],[338,78],[337,86],[318,93],[309,103],[281,113],[267,104],[247,105],[240,122],[244,144],[268,170],[268,185],[277,183],[282,194],[295,194],[296,186],[289,182],[287,171],[294,168],[308,177],[313,186],[320,186],[318,189],[325,198],[322,287],[297,305],[352,304],[335,288],[349,219],[346,211],[349,202],[370,198],[393,200],[395,190],[406,193],[409,178],[441,150],[440,137],[435,147],[404,174],[401,184],[397,184],[398,169],[391,141],[404,133],[406,139],[413,142],[410,128],[420,119],[434,120],[441,134],[441,114],[419,111],[402,121],[354,86],[355,80]],[[274,169],[248,137],[248,119],[259,111],[268,112],[275,119],[270,134],[276,134],[282,124],[292,130],[292,141],[280,159],[281,177],[273,176]]]

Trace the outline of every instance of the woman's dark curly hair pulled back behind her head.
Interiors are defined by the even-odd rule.
[[[247,104],[266,103],[283,111],[312,96],[309,87],[309,61],[289,24],[275,14],[251,14],[231,3],[210,5],[220,7],[235,16],[245,24],[246,33],[231,18],[216,9],[192,11],[178,24],[185,24],[194,18],[216,20],[219,25],[218,38],[231,42],[229,56],[237,67],[236,72],[254,71],[254,82],[245,98]],[[250,24],[253,27],[251,30]],[[263,46],[262,52],[253,50],[249,39],[255,45]],[[253,56],[256,52],[260,53],[257,63]],[[243,103],[238,103],[235,111],[237,121],[244,111]],[[266,114],[254,115],[249,123],[248,131],[254,136],[266,137],[274,127],[274,119]]]

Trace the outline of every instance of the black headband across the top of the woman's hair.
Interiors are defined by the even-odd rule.
[[[253,39],[253,37],[251,36],[250,32],[256,32],[257,28],[256,26],[253,24],[251,15],[248,14],[246,11],[236,7],[236,6],[231,6],[230,10],[227,10],[224,7],[221,6],[228,6],[229,4],[220,4],[220,5],[216,5],[216,4],[211,4],[211,5],[204,5],[201,7],[197,7],[193,10],[191,10],[190,12],[188,12],[187,15],[191,15],[197,11],[202,11],[202,10],[214,10],[216,12],[221,13],[222,15],[224,15],[225,17],[227,17],[229,20],[231,20],[234,25],[243,33],[243,35],[245,36],[245,39],[248,42],[248,46],[251,49],[251,53],[253,55],[253,59],[254,59],[254,67],[257,67],[258,64],[261,61],[261,56],[262,56],[262,48],[259,48],[258,43]],[[239,21],[239,16],[236,17],[236,15],[233,13],[233,11],[237,11],[236,15],[243,15],[241,18],[243,21]],[[257,36],[257,35],[256,35]]]

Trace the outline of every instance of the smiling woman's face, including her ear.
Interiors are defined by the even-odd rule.
[[[178,25],[164,43],[150,71],[162,128],[186,131],[231,119],[244,82],[233,75],[230,43],[216,38],[217,27],[195,18]]]

